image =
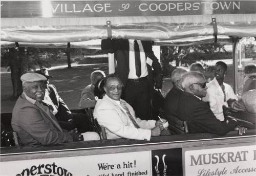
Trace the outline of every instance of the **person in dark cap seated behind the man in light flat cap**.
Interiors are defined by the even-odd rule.
[[[44,75],[47,78],[45,98],[42,101],[49,104],[60,126],[67,130],[76,127],[80,133],[91,131],[89,118],[84,114],[71,113],[67,104],[58,95],[56,87],[49,83],[49,78],[53,76],[50,76],[46,69],[37,70],[35,73]]]

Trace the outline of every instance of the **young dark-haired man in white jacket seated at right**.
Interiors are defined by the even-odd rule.
[[[211,111],[220,121],[224,121],[222,106],[229,106],[232,102],[238,100],[232,87],[224,82],[226,73],[227,64],[218,61],[215,64],[215,78],[207,84],[207,95],[203,98],[203,101],[210,103]]]

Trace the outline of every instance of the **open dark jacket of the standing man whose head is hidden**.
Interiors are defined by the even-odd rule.
[[[148,80],[150,81],[151,87],[153,88],[153,75],[152,68],[156,72],[156,75],[161,74],[161,66],[158,62],[157,57],[154,55],[152,50],[152,42],[151,41],[141,41],[146,58],[152,59],[152,67],[149,64],[147,66],[148,72]],[[126,86],[126,82],[128,79],[128,75],[130,72],[129,69],[129,40],[128,39],[103,39],[101,40],[101,49],[106,50],[108,53],[115,53],[116,59],[116,71],[119,78],[121,79],[124,86]],[[152,89],[153,93],[153,89]]]

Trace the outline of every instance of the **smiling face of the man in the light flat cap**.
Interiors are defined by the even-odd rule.
[[[26,83],[23,91],[28,97],[41,102],[45,97],[45,81]]]

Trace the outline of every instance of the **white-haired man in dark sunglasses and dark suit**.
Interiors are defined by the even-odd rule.
[[[179,118],[188,122],[189,133],[225,135],[235,129],[237,121],[227,119],[221,122],[212,113],[209,104],[202,101],[207,94],[207,86],[201,73],[185,73],[181,83],[184,93],[181,94],[178,104]],[[239,130],[240,135],[245,133],[243,127],[236,127],[236,130]]]

